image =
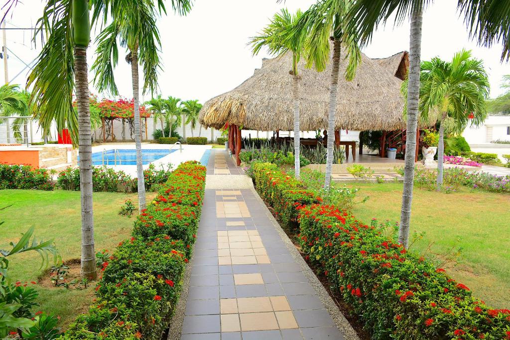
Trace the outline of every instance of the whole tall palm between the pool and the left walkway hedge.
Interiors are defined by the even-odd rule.
[[[161,68],[159,51],[161,41],[157,27],[157,12],[166,13],[163,0],[156,4],[152,0],[95,0],[101,3],[92,16],[92,21],[100,20],[103,13],[103,22],[107,25],[98,35],[97,60],[92,65],[96,71],[94,82],[99,91],[109,90],[118,94],[113,76],[113,68],[118,63],[117,43],[128,50],[126,61],[131,64],[133,79],[134,120],[136,166],[138,177],[138,207],[145,208],[145,184],[142,164],[142,144],[140,129],[139,104],[139,71],[138,64],[143,67],[144,85],[143,93],[154,93],[157,88],[157,73]],[[174,10],[187,14],[191,9],[190,0],[172,0]],[[106,10],[100,11],[103,7]],[[171,128],[170,128],[171,129]]]

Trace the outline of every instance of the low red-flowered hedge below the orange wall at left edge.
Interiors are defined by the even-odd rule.
[[[0,164],[0,189],[53,190],[52,178],[44,168]]]

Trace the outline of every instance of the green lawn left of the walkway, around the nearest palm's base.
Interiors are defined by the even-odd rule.
[[[152,198],[154,193],[148,193]],[[119,241],[129,237],[133,219],[117,213],[124,200],[131,199],[137,206],[136,194],[94,193],[94,235],[96,251],[112,250]],[[62,259],[80,258],[81,218],[80,192],[0,190],[0,207],[12,204],[0,212],[0,249],[10,249],[9,242],[19,240],[21,233],[35,227],[39,240],[54,239]],[[40,257],[36,252],[13,255],[9,258],[9,273],[15,280],[37,281],[41,274]],[[61,316],[61,324],[71,322],[92,302],[93,285],[86,290],[37,287],[37,309]]]

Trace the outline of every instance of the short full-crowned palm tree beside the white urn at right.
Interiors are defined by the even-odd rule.
[[[440,116],[438,144],[438,190],[443,185],[444,129],[446,117],[453,119],[457,132],[462,132],[473,114],[473,123],[487,116],[486,100],[489,80],[483,63],[471,59],[471,51],[461,50],[451,62],[432,58],[421,63],[420,116],[427,119],[431,111]]]

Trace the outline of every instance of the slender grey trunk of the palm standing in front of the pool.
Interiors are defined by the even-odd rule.
[[[133,75],[133,98],[135,101],[135,144],[136,174],[138,177],[138,209],[142,211],[145,209],[145,182],[143,178],[142,141],[140,138],[140,103],[138,101],[138,46],[131,51],[131,72]]]

